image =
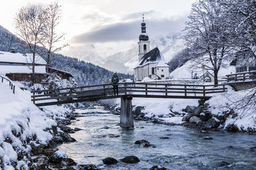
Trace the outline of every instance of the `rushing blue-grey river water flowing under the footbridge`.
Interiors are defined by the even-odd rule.
[[[255,134],[224,131],[203,134],[200,129],[145,121],[134,121],[134,129],[127,130],[118,125],[119,115],[100,107],[76,112],[84,117],[77,117],[79,121],[74,120],[70,127],[83,130],[70,134],[76,142],[64,143],[59,148],[78,164],[95,164],[100,169],[149,169],[154,165],[168,169],[256,169],[256,148],[252,149],[256,146]],[[204,136],[213,139],[205,140]],[[134,144],[141,139],[156,148]],[[136,155],[140,162],[121,162],[127,155]],[[106,157],[115,158],[118,164],[104,165],[102,159]],[[230,165],[221,166],[221,161]]]

